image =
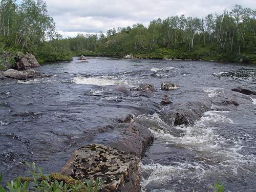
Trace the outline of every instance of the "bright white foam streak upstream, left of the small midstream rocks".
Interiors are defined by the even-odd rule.
[[[126,84],[120,80],[111,80],[105,78],[97,78],[97,77],[75,77],[72,80],[76,84],[94,84],[96,86],[114,86],[117,84]]]

